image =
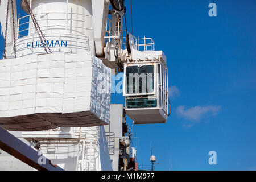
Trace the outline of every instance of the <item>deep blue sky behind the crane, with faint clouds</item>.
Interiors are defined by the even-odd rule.
[[[133,126],[139,165],[150,164],[152,142],[156,170],[255,170],[255,0],[157,2],[133,1],[133,32],[167,56],[172,115],[164,125]],[[208,15],[212,2],[217,17]]]

